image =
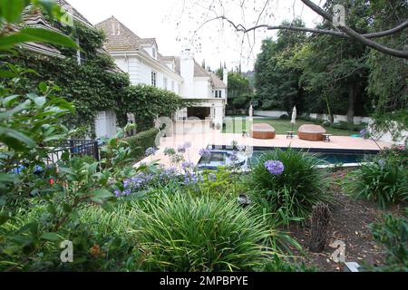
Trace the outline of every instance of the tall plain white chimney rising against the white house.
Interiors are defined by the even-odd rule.
[[[181,96],[194,98],[194,53],[190,49],[180,54],[180,75],[184,80]]]

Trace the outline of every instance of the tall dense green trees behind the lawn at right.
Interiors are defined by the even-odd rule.
[[[406,18],[404,0],[328,0],[324,8],[332,13],[339,4],[345,5],[347,25],[360,34],[386,31]],[[303,26],[297,20],[290,25]],[[332,24],[325,20],[316,28],[331,30]],[[406,30],[375,39],[399,50],[406,40]],[[334,114],[346,114],[349,122],[373,114],[375,131],[390,132],[395,140],[407,131],[408,66],[402,58],[347,37],[281,31],[277,41],[264,41],[255,71],[262,109],[290,111],[296,104],[300,112],[329,114],[331,122]]]

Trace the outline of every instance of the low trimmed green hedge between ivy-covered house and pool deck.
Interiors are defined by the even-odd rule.
[[[145,150],[155,147],[156,136],[159,130],[152,128],[148,131],[142,131],[139,134],[126,138],[125,141],[131,148],[131,157],[140,160],[144,157]]]

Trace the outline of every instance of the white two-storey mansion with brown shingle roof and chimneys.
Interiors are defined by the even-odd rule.
[[[210,119],[222,126],[227,103],[228,72],[224,70],[224,82],[203,69],[194,55],[185,50],[179,56],[162,56],[154,38],[141,38],[131,32],[113,16],[95,25],[106,34],[105,49],[125,73],[132,84],[149,84],[170,90],[183,99],[194,99],[194,107],[178,111],[177,120],[196,117]]]

